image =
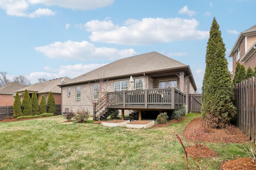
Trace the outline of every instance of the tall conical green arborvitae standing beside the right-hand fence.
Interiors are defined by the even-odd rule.
[[[212,127],[225,127],[236,115],[234,91],[225,44],[215,18],[206,49],[206,68],[202,86],[202,118]]]

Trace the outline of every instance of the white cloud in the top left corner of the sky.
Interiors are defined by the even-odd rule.
[[[10,16],[35,18],[55,15],[55,12],[48,8],[38,8],[29,14],[29,8],[35,4],[60,6],[73,10],[90,10],[109,6],[113,2],[114,0],[0,0],[0,8],[4,9],[6,14]]]

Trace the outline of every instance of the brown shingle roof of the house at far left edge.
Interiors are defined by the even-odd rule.
[[[18,82],[10,82],[4,86],[0,86],[0,94],[15,94],[17,90],[27,87],[28,85],[22,85]]]

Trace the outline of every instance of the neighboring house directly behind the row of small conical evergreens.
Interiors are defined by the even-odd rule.
[[[33,92],[36,92],[37,97],[38,97],[38,104],[40,104],[42,95],[44,95],[46,104],[47,104],[47,99],[48,99],[49,93],[52,92],[55,104],[61,104],[61,88],[58,85],[63,84],[69,80],[71,80],[71,79],[68,77],[56,78],[53,80],[48,80],[43,83],[32,84],[25,88],[21,88],[17,91],[20,95],[21,100],[23,98],[25,90],[28,90],[28,94],[29,94],[30,98],[32,97]],[[14,94],[14,96],[15,96],[15,94]]]

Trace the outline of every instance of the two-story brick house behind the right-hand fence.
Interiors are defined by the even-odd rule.
[[[233,57],[232,79],[238,62],[243,64],[246,70],[249,66],[254,70],[256,66],[256,25],[240,33],[229,57]]]

